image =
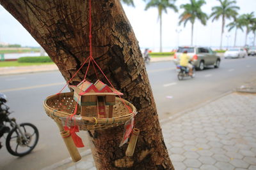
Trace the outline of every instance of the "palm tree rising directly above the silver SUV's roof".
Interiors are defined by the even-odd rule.
[[[184,22],[185,27],[188,21],[191,22],[191,45],[193,45],[193,30],[196,18],[198,18],[203,25],[206,25],[207,22],[207,14],[201,10],[203,4],[205,4],[204,0],[190,0],[189,4],[180,5],[180,8],[184,9],[184,12],[179,17],[179,24]]]

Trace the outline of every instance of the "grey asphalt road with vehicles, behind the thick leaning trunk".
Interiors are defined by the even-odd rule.
[[[147,66],[159,119],[198,106],[221,96],[246,81],[256,78],[256,57],[223,59],[220,68],[196,71],[195,78],[179,81],[173,62],[156,62]],[[41,169],[69,157],[56,124],[47,117],[42,103],[65,84],[58,71],[0,76],[0,92],[8,96],[11,116],[17,122],[31,122],[38,127],[40,139],[32,153],[25,157],[10,155],[1,148],[0,169]],[[66,89],[68,91],[68,89]],[[80,134],[79,136],[83,136]],[[4,143],[4,138],[0,139]],[[81,149],[83,152],[85,149]]]

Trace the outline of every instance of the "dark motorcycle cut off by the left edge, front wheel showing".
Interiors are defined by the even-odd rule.
[[[0,93],[0,138],[7,134],[6,149],[10,154],[22,157],[35,148],[39,138],[38,129],[33,124],[17,124],[15,118],[9,118],[12,112],[6,102],[6,96]]]

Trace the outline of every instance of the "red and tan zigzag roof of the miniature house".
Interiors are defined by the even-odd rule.
[[[78,85],[70,85],[74,92],[81,96],[86,95],[123,95],[116,89],[108,87],[105,83],[97,80],[94,84],[90,81],[83,80]]]

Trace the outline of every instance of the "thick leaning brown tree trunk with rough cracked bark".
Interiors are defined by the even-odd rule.
[[[0,0],[0,3],[42,45],[65,80],[90,55],[88,1]],[[125,157],[127,144],[118,147],[124,126],[90,131],[97,168],[174,169],[164,145],[140,47],[119,0],[92,1],[92,45],[93,58],[102,71],[124,93],[124,99],[137,108],[135,127],[141,131],[130,159]],[[86,66],[70,83],[76,85],[83,80],[85,69]],[[97,80],[93,69],[88,71],[87,79]],[[106,82],[101,74],[99,79]]]

